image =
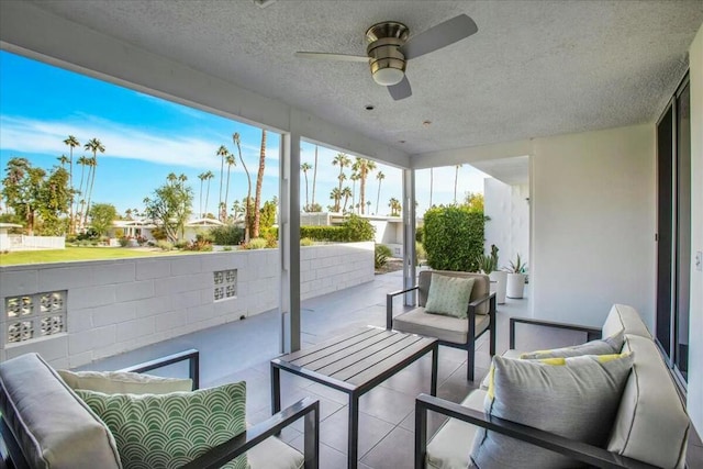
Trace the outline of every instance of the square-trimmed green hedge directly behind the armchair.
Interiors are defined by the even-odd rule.
[[[483,255],[482,212],[466,206],[439,206],[425,212],[427,264],[436,270],[473,272]]]

